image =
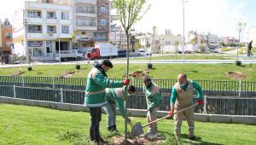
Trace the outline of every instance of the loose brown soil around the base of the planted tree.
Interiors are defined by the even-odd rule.
[[[115,145],[124,145],[125,137],[123,136],[113,136],[113,144]],[[162,144],[165,140],[162,137],[157,137],[154,140],[145,139],[143,136],[137,138],[128,138],[128,145],[143,145],[143,144]]]

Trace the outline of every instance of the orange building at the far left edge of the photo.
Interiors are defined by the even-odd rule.
[[[12,26],[10,25],[9,19],[5,19],[3,21],[3,25],[1,26],[2,33],[2,54],[10,55],[11,49],[13,48],[13,37],[12,37]]]

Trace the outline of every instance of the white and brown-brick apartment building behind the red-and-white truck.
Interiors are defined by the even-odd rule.
[[[73,30],[76,48],[94,46],[94,42],[108,41],[110,3],[108,0],[55,0],[73,7]]]

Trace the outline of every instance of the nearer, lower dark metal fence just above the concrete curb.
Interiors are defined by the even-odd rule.
[[[22,86],[0,85],[0,96],[9,96],[21,99],[64,102],[72,104],[84,104],[83,90],[45,89]],[[170,109],[170,96],[161,97],[160,110]],[[196,99],[194,99],[196,102]],[[225,97],[205,96],[205,107],[195,107],[195,113],[253,115],[256,116],[256,97]],[[127,102],[129,108],[146,109],[145,96],[133,95]],[[205,109],[204,109],[205,108]]]

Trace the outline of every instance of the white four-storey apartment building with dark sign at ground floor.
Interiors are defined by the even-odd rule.
[[[53,0],[26,1],[15,11],[14,53],[55,60],[73,45],[73,7]],[[27,42],[27,43],[26,43]]]

